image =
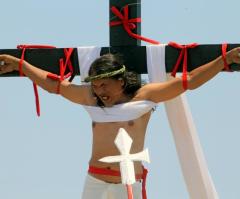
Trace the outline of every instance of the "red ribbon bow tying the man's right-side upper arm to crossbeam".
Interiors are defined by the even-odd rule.
[[[197,43],[192,43],[192,44],[187,44],[187,45],[181,45],[181,44],[178,44],[178,43],[175,43],[175,42],[170,42],[168,45],[181,50],[180,51],[180,55],[179,55],[179,57],[177,59],[177,62],[175,64],[174,68],[173,68],[173,71],[172,71],[171,75],[173,77],[176,76],[176,73],[178,71],[180,63],[183,62],[182,84],[183,84],[183,88],[185,90],[187,90],[187,88],[188,88],[188,83],[187,83],[188,49],[195,48],[195,47],[198,46],[198,44]]]

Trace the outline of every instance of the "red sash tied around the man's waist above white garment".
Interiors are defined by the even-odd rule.
[[[108,175],[108,176],[121,176],[120,171],[105,169],[105,168],[98,168],[93,166],[89,166],[88,173]],[[146,191],[147,173],[148,173],[148,170],[143,167],[143,173],[136,175],[137,180],[142,180],[142,198],[143,199],[147,199],[147,191]]]

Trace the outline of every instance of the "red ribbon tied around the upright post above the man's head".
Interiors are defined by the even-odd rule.
[[[128,33],[130,37],[133,37],[135,39],[140,39],[142,41],[145,41],[151,44],[160,44],[158,41],[148,39],[146,37],[143,37],[141,35],[138,35],[132,32],[132,30],[136,28],[136,25],[134,23],[140,23],[141,18],[129,19],[128,5],[124,6],[123,14],[115,6],[111,7],[111,11],[120,19],[120,21],[111,21],[110,26],[123,25],[123,28],[125,29],[125,31]]]

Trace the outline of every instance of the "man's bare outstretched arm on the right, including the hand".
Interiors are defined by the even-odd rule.
[[[240,48],[234,48],[226,55],[226,62],[228,65],[232,63],[240,63]],[[188,73],[187,83],[188,89],[193,90],[203,85],[216,74],[225,68],[222,57],[204,64]],[[182,94],[185,91],[182,85],[182,78],[173,78],[165,83],[150,83],[143,86],[138,96],[141,99],[151,100],[153,102],[167,101]]]

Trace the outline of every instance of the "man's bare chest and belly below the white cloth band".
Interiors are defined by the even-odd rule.
[[[141,100],[138,97],[133,97],[129,101]],[[89,100],[89,105],[96,106],[96,101],[91,99]],[[117,136],[118,130],[120,128],[124,128],[129,136],[133,139],[132,147],[130,153],[138,153],[143,150],[145,134],[147,129],[147,124],[149,122],[151,112],[145,113],[141,117],[125,121],[125,122],[92,122],[92,132],[93,132],[93,141],[92,141],[92,155],[89,161],[90,166],[112,169],[119,171],[119,164],[117,163],[103,163],[100,162],[99,159],[106,156],[114,156],[119,155],[116,145],[114,144],[114,140]],[[142,164],[141,162],[135,162],[135,173],[142,174]],[[110,182],[110,183],[120,183],[120,177],[107,176],[107,175],[99,175],[99,174],[91,174],[94,177]]]

